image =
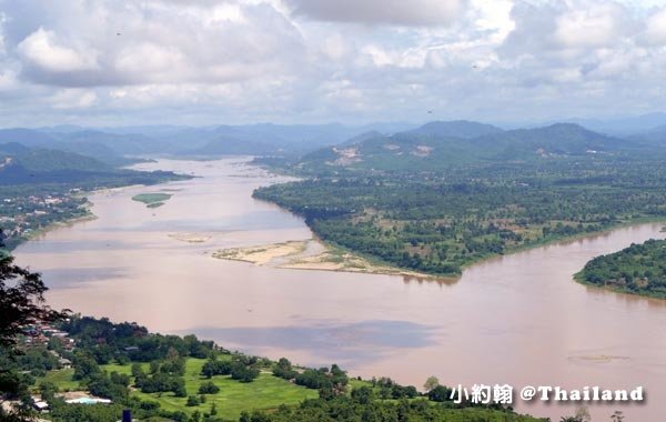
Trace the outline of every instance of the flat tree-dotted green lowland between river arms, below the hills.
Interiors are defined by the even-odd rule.
[[[666,219],[666,171],[645,158],[460,165],[437,172],[340,170],[258,189],[322,239],[380,262],[457,275],[497,254]]]

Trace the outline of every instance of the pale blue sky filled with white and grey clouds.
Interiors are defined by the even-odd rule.
[[[0,127],[655,111],[666,0],[0,0]]]

